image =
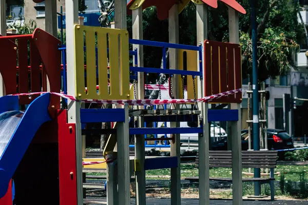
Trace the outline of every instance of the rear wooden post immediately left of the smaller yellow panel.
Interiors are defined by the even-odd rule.
[[[179,43],[179,11],[178,5],[175,4],[169,10],[169,43]],[[178,69],[179,56],[178,50],[169,49],[169,68]],[[179,96],[178,76],[172,78],[172,92],[174,97]],[[173,107],[173,108],[172,108]],[[179,105],[171,106],[171,109],[178,109]],[[170,127],[180,127],[180,122],[171,122]],[[181,163],[180,163],[180,135],[175,134],[175,142],[171,142],[170,156],[178,157],[177,168],[171,168],[171,205],[181,204]]]

